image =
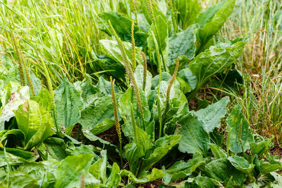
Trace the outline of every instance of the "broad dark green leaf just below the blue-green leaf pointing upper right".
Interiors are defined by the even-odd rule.
[[[199,151],[207,156],[210,146],[210,135],[204,130],[204,122],[199,120],[195,114],[187,114],[178,120],[181,125],[178,149],[181,152],[195,153]]]

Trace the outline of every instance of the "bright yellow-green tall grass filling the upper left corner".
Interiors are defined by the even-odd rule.
[[[21,0],[7,4],[1,0],[0,51],[13,56],[8,32],[12,28],[38,77],[44,75],[40,53],[53,85],[61,83],[63,74],[71,81],[82,79],[85,73],[96,72],[92,53],[99,53],[98,41],[107,37],[98,29],[96,15],[124,6],[113,0]]]

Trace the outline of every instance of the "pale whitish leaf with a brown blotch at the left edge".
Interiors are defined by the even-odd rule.
[[[28,86],[23,86],[11,93],[8,103],[3,107],[0,115],[0,131],[4,130],[5,121],[15,116],[13,110],[17,110],[19,105],[22,105],[27,99],[30,98]]]

